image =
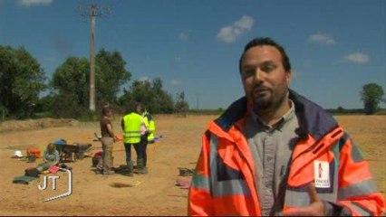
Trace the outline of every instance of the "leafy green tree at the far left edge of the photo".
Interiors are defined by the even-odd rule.
[[[32,115],[44,85],[44,71],[24,47],[0,45],[0,108],[15,118]]]

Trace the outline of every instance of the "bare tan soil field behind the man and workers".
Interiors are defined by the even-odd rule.
[[[115,117],[113,129],[121,134],[120,118]],[[66,163],[72,166],[72,194],[50,202],[44,199],[68,190],[68,175],[58,172],[56,190],[43,185],[43,175],[30,184],[13,184],[15,176],[24,175],[24,169],[42,162],[26,163],[11,158],[15,150],[29,146],[44,147],[63,138],[68,144],[91,143],[92,152],[101,150],[101,143],[93,141],[94,132],[100,134],[98,123],[73,123],[67,126],[30,127],[14,126],[17,131],[0,128],[0,215],[186,215],[188,190],[175,185],[179,167],[196,165],[201,145],[201,135],[208,122],[215,116],[188,116],[187,118],[156,117],[155,144],[148,146],[148,175],[95,175],[92,158]],[[386,192],[386,116],[339,116],[336,117],[352,136],[369,161],[372,175]],[[30,123],[31,124],[31,123]],[[44,126],[41,124],[40,126]],[[0,126],[1,127],[1,126]],[[121,143],[114,145],[114,166],[125,164],[125,152]],[[136,158],[134,150],[132,156]],[[51,183],[49,183],[51,184]]]

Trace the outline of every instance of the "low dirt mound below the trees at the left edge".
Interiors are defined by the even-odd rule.
[[[67,127],[78,126],[78,121],[72,118],[68,119],[53,119],[53,118],[41,118],[41,119],[28,119],[28,120],[8,120],[0,122],[0,133],[10,131],[24,131],[31,129],[42,129],[48,127]]]

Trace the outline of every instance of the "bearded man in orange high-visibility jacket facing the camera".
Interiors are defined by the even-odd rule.
[[[207,127],[189,215],[379,215],[381,193],[352,139],[289,89],[291,64],[270,38],[246,44],[246,96]]]

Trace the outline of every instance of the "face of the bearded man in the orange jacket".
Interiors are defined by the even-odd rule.
[[[282,105],[291,71],[285,71],[281,54],[274,46],[255,46],[246,51],[241,71],[246,98],[256,112],[278,109]]]

